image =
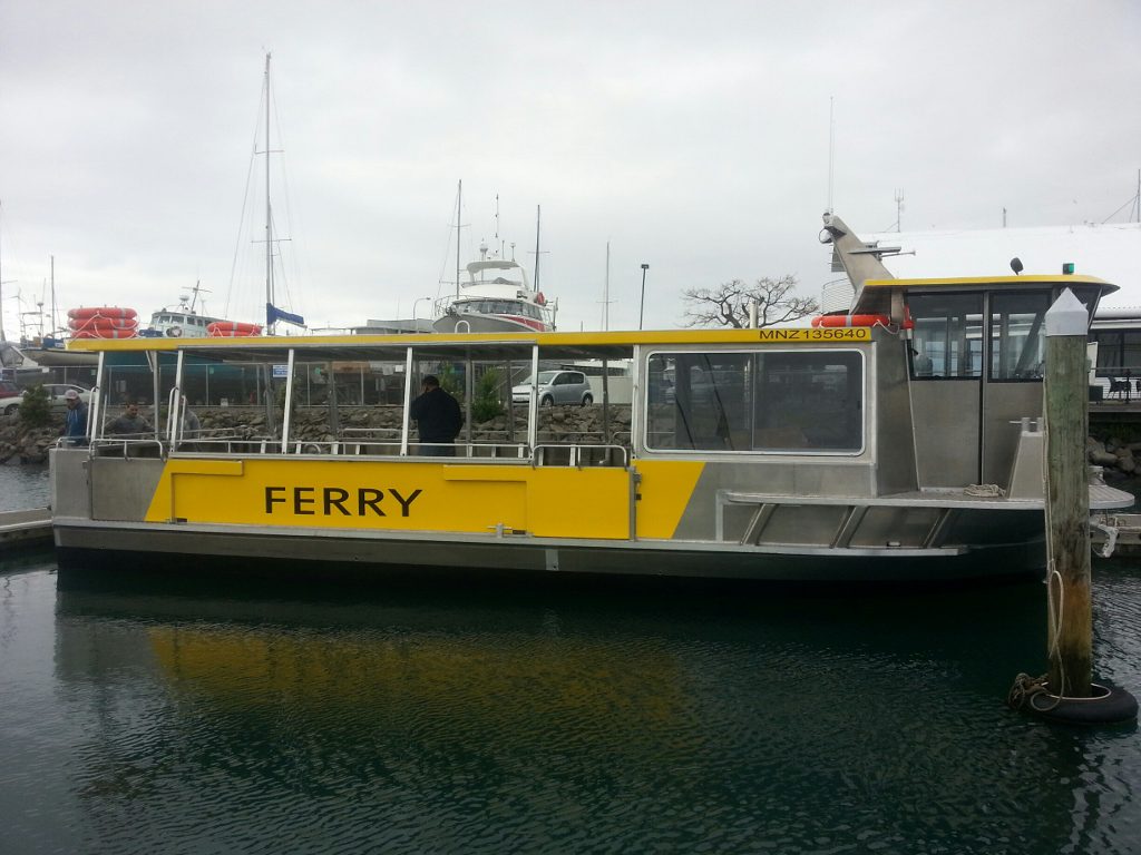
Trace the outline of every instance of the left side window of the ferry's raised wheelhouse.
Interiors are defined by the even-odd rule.
[[[913,378],[982,376],[981,294],[912,294],[907,308],[915,321]]]

